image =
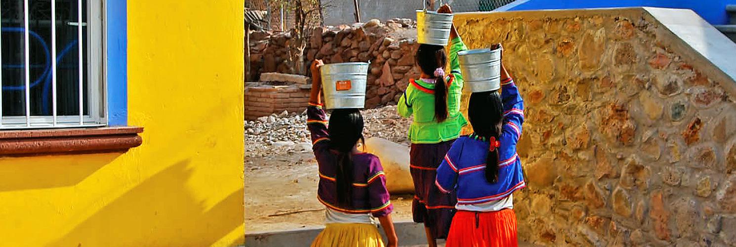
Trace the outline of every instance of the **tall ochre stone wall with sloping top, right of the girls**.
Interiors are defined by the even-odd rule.
[[[503,43],[526,102],[522,240],[736,246],[735,82],[682,55],[646,10],[468,13],[456,25],[471,49]]]

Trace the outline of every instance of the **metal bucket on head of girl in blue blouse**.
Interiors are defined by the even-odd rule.
[[[464,85],[471,92],[486,92],[501,87],[501,51],[499,48],[458,52]]]

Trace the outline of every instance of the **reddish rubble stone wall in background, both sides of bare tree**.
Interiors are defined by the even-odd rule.
[[[414,65],[419,46],[413,39],[416,32],[416,23],[409,19],[317,27],[305,49],[305,65],[314,59],[325,63],[370,61],[366,107],[395,104],[408,79],[420,75]],[[291,65],[286,62],[289,33],[252,32],[250,38],[250,79],[258,78],[262,72],[291,72]]]

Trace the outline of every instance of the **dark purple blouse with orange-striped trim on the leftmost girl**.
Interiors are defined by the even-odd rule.
[[[317,199],[326,207],[353,214],[370,213],[374,217],[388,215],[394,210],[386,189],[381,160],[373,154],[353,154],[353,205],[340,207],[337,203],[336,153],[330,150],[327,115],[319,105],[307,108],[307,128],[311,132],[312,149],[319,166]]]

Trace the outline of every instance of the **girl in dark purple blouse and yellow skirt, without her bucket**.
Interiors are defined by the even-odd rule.
[[[321,60],[316,60],[311,66],[307,128],[319,166],[317,199],[326,207],[327,226],[311,246],[383,247],[374,218],[381,221],[389,238],[387,246],[397,246],[391,220],[393,206],[381,161],[373,154],[358,151],[358,140],[363,140],[363,116],[357,109],[336,109],[327,125],[319,99],[322,65]]]

